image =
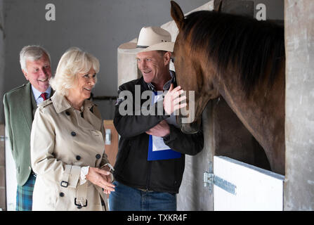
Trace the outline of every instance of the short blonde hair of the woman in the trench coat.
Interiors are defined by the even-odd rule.
[[[55,76],[50,79],[51,87],[59,94],[67,96],[68,90],[75,84],[77,75],[87,73],[91,68],[98,73],[100,68],[99,60],[90,53],[72,47],[61,56]],[[97,82],[97,78],[95,82]]]

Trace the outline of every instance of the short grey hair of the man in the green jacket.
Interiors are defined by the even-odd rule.
[[[25,70],[27,72],[26,61],[27,60],[30,60],[30,61],[39,60],[41,58],[41,56],[43,56],[44,54],[46,54],[48,56],[49,62],[51,63],[50,55],[49,55],[48,51],[46,51],[46,49],[44,49],[43,47],[38,46],[38,45],[24,46],[22,48],[22,50],[20,51],[20,67],[21,67],[21,69]]]

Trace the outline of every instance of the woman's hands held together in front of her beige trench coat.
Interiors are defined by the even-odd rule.
[[[105,169],[89,167],[89,173],[86,175],[86,179],[100,186],[100,188],[103,188],[104,193],[107,195],[109,195],[111,191],[115,191],[115,185],[111,184],[110,181],[110,172]]]

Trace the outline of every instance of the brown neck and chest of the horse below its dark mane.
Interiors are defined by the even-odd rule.
[[[233,71],[216,77],[218,92],[266,152],[284,148],[284,75],[270,89],[267,82],[257,86],[247,98]]]

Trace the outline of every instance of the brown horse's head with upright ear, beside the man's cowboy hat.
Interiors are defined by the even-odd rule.
[[[179,114],[181,130],[192,134],[199,130],[202,111],[210,99],[219,96],[214,87],[214,68],[205,67],[202,52],[192,51],[191,35],[184,32],[185,18],[183,11],[175,1],[171,1],[171,17],[178,27],[178,36],[174,44],[173,61],[176,69],[176,80],[186,94],[188,111]],[[206,68],[206,71],[204,71]],[[206,78],[205,78],[206,76]],[[206,79],[206,81],[205,81]]]

